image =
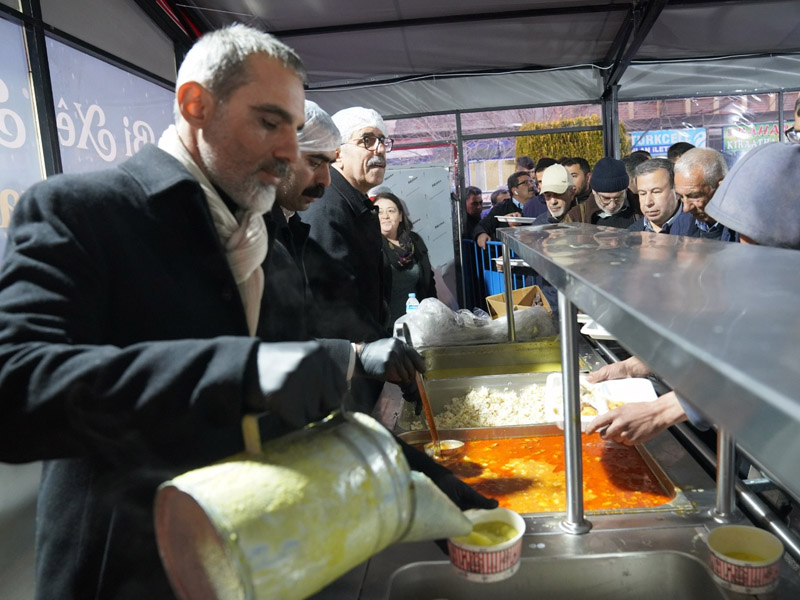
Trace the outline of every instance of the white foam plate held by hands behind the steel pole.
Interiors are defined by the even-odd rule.
[[[633,377],[629,379],[612,379],[600,383],[588,383],[584,375],[579,376],[581,384],[581,408],[592,407],[597,414],[581,414],[581,431],[595,417],[607,413],[622,404],[633,402],[652,402],[657,398],[656,391],[649,379]],[[544,410],[548,421],[559,428],[564,428],[563,392],[561,373],[550,373],[544,388]]]

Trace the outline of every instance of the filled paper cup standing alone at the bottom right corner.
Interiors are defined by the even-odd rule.
[[[778,585],[783,544],[768,531],[723,525],[708,534],[711,570],[722,587],[740,594],[763,594]]]

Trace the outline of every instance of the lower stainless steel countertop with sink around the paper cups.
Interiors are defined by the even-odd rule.
[[[752,597],[714,585],[706,566],[709,551],[704,539],[709,529],[717,525],[710,517],[714,481],[669,433],[648,442],[646,447],[691,500],[692,508],[613,515],[589,513],[592,530],[585,535],[565,533],[560,527],[561,514],[526,515],[520,571],[500,584],[460,579],[432,542],[395,544],[370,559],[363,570],[348,574],[355,587],[338,598],[501,600],[542,593],[548,598],[586,600]],[[671,583],[668,585],[665,580]],[[603,586],[608,586],[605,591]],[[575,590],[580,594],[575,595]],[[800,597],[800,578],[789,561],[784,564],[778,590],[769,597]]]

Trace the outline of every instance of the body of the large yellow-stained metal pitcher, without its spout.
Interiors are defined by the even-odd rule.
[[[179,597],[305,598],[403,536],[408,464],[380,424],[350,419],[162,484],[156,538]]]

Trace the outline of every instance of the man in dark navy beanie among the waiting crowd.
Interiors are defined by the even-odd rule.
[[[592,171],[589,186],[592,188],[597,209],[590,215],[593,225],[627,229],[641,215],[636,214],[628,202],[628,172],[625,163],[616,158],[601,158]]]

